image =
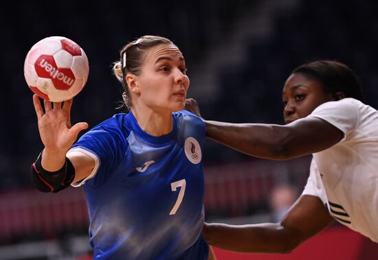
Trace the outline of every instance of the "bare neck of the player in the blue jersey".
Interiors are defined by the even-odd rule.
[[[138,106],[132,107],[131,112],[140,128],[153,137],[169,134],[173,130],[172,113],[170,111],[157,111],[147,106],[143,108]]]

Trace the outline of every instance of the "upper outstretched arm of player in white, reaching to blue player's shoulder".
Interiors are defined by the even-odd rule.
[[[205,121],[210,139],[260,158],[286,160],[335,145],[344,133],[322,119],[305,117],[286,126]]]

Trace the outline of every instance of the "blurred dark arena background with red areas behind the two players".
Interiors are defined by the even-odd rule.
[[[111,63],[144,34],[183,51],[189,96],[206,119],[283,123],[282,86],[292,69],[340,60],[359,76],[365,102],[378,108],[378,2],[342,0],[7,1],[0,16],[0,259],[91,259],[81,189],[38,193],[29,168],[42,144],[32,92],[23,78],[27,51],[47,36],[76,41],[89,58],[89,80],[72,121],[90,127],[119,113],[121,86]],[[210,140],[204,151],[208,222],[274,221],[302,192],[309,157],[274,162]],[[289,255],[217,250],[223,259],[377,259],[378,246],[335,224]]]

